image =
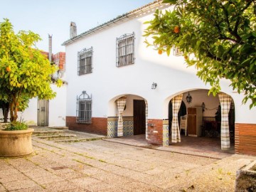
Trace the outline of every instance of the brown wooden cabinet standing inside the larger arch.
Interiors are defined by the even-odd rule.
[[[201,136],[202,107],[188,107],[188,136]]]

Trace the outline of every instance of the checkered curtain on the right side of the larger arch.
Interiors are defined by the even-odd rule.
[[[228,113],[230,111],[231,97],[225,93],[218,94],[218,97],[220,99],[220,107],[221,107],[221,129],[220,129],[221,149],[227,150],[230,148]]]

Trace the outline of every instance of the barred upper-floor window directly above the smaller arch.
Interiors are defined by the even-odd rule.
[[[134,33],[117,38],[117,67],[134,64]]]

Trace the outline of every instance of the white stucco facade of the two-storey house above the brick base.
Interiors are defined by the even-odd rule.
[[[171,54],[168,57],[165,53],[159,55],[154,48],[146,48],[145,39],[142,37],[146,25],[143,23],[151,18],[151,15],[139,16],[92,33],[66,46],[68,116],[75,116],[76,97],[82,90],[92,94],[92,117],[112,116],[114,112],[111,108],[115,107],[112,99],[115,97],[138,95],[148,102],[149,118],[166,119],[168,103],[172,97],[189,90],[210,89],[209,85],[205,85],[196,76],[193,67],[187,68],[183,56]],[[135,33],[135,64],[117,68],[116,38],[132,32]],[[78,51],[91,46],[92,73],[78,76]],[[152,82],[157,83],[156,90],[151,90]],[[223,80],[223,92],[231,95],[235,102],[236,122],[256,123],[255,109],[249,110],[248,105],[241,106],[242,95],[233,92],[228,85],[229,82]],[[205,102],[206,107],[211,109],[213,103],[218,103],[218,99],[212,100],[212,103],[198,101],[198,105]]]

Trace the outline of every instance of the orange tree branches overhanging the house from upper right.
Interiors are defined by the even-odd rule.
[[[164,0],[169,11],[156,10],[144,31],[148,46],[169,55],[183,51],[198,77],[220,91],[220,79],[245,92],[243,102],[256,106],[256,0]],[[151,38],[148,38],[151,37]],[[149,40],[151,39],[151,40]],[[191,55],[191,57],[189,57]],[[193,56],[192,56],[193,55]]]

